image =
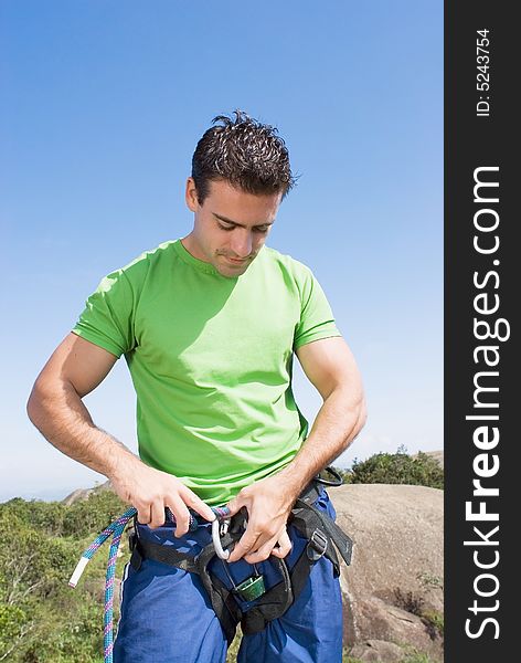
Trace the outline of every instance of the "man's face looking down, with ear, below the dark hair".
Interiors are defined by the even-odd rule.
[[[187,181],[187,204],[194,213],[192,232],[184,248],[199,260],[211,263],[223,276],[240,276],[263,248],[275,221],[281,193],[255,196],[235,189],[226,180],[210,182],[203,204],[195,185]]]

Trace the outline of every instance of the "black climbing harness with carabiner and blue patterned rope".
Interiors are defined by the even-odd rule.
[[[351,564],[352,540],[328,514],[313,505],[313,502],[320,495],[320,488],[318,487],[320,484],[338,486],[342,483],[341,477],[334,470],[327,467],[326,471],[334,477],[334,481],[326,480],[321,476],[315,477],[295,502],[288,518],[288,525],[293,525],[307,540],[304,551],[291,570],[288,569],[285,559],[275,556],[269,558],[281,578],[280,582],[269,589],[266,589],[265,579],[256,565],[253,565],[254,575],[238,585],[235,583],[228,570],[226,559],[230,556],[230,548],[233,548],[233,545],[243,536],[247,525],[245,508],[242,508],[233,517],[230,517],[227,507],[212,507],[215,514],[215,519],[212,522],[212,541],[203,547],[195,557],[187,552],[181,552],[173,546],[162,546],[145,539],[142,536],[139,536],[139,530],[135,526],[134,532],[129,536],[131,550],[130,565],[135,570],[139,570],[143,559],[152,559],[198,573],[209,594],[228,644],[231,644],[235,636],[238,623],[241,623],[242,631],[245,634],[262,631],[268,622],[281,617],[294,603],[304,589],[312,566],[321,557],[326,557],[332,562],[336,577],[340,576],[340,564],[334,547],[339,550],[345,564]],[[111,535],[113,539],[108,554],[105,581],[105,663],[113,663],[116,557],[126,526],[131,519],[135,520],[136,525],[136,514],[137,511],[135,508],[129,508],[104,529],[82,555],[70,580],[70,586],[76,587],[88,560]],[[166,509],[166,515],[168,520],[174,523],[170,509]],[[199,523],[208,524],[208,520],[191,511],[189,532],[194,532]],[[332,544],[334,544],[334,547]],[[215,557],[222,560],[221,564],[231,582],[231,589],[227,589],[225,583],[209,570],[209,565]],[[243,607],[243,610],[240,608],[237,598],[247,603],[246,608]],[[253,606],[249,606],[251,602],[253,602]]]

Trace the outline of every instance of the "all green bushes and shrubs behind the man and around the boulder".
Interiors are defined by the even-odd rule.
[[[436,461],[426,454],[412,459],[403,449],[355,461],[350,472],[340,472],[350,483],[443,486]],[[113,492],[102,490],[71,506],[21,498],[0,504],[0,663],[103,662],[106,552],[93,558],[77,590],[70,589],[67,581],[93,538],[126,508]],[[119,578],[128,560],[127,546],[121,549]],[[424,579],[433,587],[438,580]],[[443,614],[421,611],[421,617],[433,632],[443,634]],[[240,643],[241,633],[230,648],[228,663],[235,663]],[[404,663],[429,663],[421,654],[412,655],[416,659],[410,656]],[[357,663],[347,651],[343,661]]]

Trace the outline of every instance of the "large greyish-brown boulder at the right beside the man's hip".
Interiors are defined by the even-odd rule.
[[[400,657],[395,646],[408,645],[443,660],[443,636],[428,620],[443,613],[443,491],[351,484],[328,492],[354,543],[340,579],[351,655],[400,661],[404,650]]]

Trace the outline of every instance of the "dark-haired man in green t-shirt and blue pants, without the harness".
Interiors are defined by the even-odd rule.
[[[28,412],[137,508],[143,540],[193,557],[211,540],[210,506],[227,504],[232,515],[245,507],[247,527],[227,562],[213,562],[236,587],[259,575],[269,583],[274,558],[295,565],[302,541],[287,526],[291,508],[365,413],[353,357],[312,273],[264,245],[294,185],[284,141],[241,112],[217,122],[187,181],[193,230],[102,281],[36,379]],[[294,354],[323,399],[309,434],[291,392]],[[139,457],[98,429],[82,401],[121,355],[137,392]],[[315,505],[334,517],[323,488]],[[201,516],[194,532],[189,508]],[[341,630],[338,578],[321,558],[289,610],[243,638],[238,660],[340,662]],[[127,568],[116,661],[225,656],[199,576],[148,558]]]

